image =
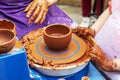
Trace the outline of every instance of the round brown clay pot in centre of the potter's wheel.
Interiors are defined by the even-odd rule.
[[[49,49],[63,50],[71,42],[72,29],[63,24],[52,24],[44,28],[43,39]]]

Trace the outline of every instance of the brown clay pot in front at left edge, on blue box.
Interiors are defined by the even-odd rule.
[[[0,54],[9,52],[15,45],[16,36],[11,30],[0,29]]]

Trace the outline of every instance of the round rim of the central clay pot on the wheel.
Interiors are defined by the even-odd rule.
[[[55,26],[55,25],[66,27],[66,28],[69,30],[69,32],[66,33],[66,34],[64,34],[64,35],[62,35],[62,36],[60,36],[60,37],[53,37],[53,36],[47,34],[47,33],[46,33],[46,30],[47,30],[49,27],[52,27],[52,26]],[[66,36],[72,34],[72,29],[71,29],[69,26],[65,25],[65,24],[51,24],[51,25],[48,25],[48,26],[44,27],[43,33],[44,33],[46,36],[50,37],[50,38],[63,38],[63,37],[66,37]]]

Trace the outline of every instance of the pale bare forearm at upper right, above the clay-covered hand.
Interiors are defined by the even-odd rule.
[[[96,33],[103,27],[109,16],[111,15],[109,8],[107,8],[96,20],[96,22],[91,26]]]

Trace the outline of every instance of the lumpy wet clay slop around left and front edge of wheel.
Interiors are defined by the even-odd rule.
[[[62,64],[55,64],[52,60],[48,59],[48,58],[42,58],[41,60],[36,58],[33,54],[32,49],[30,48],[32,44],[34,44],[34,40],[38,37],[41,37],[43,34],[43,30],[42,29],[37,29],[35,31],[30,32],[29,34],[27,34],[26,36],[24,36],[21,39],[22,44],[24,45],[24,47],[27,50],[27,57],[28,57],[28,61],[29,64],[34,67],[34,64],[38,64],[39,66],[46,66],[46,67],[66,67],[66,66],[77,66],[77,65],[82,65],[86,62],[90,61],[90,57],[88,56],[87,52],[89,49],[86,50],[86,52],[84,53],[84,55],[77,59],[74,60],[72,62],[69,63],[62,63]],[[88,48],[88,47],[87,47]]]

